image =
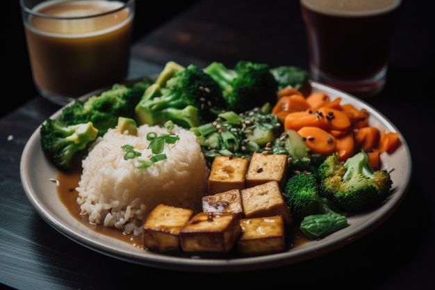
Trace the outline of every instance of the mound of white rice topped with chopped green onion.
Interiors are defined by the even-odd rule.
[[[147,149],[149,132],[157,136],[174,133],[179,140],[165,143],[161,154],[167,159],[138,169],[139,159],[149,161],[153,155]],[[124,160],[123,145],[132,145],[142,155]],[[164,127],[143,124],[138,127],[138,136],[109,129],[92,145],[82,167],[76,188],[81,214],[88,215],[92,224],[115,227],[135,236],[142,236],[145,218],[158,204],[201,211],[210,173],[195,134],[177,125],[169,132]]]

